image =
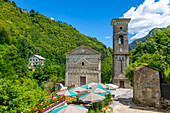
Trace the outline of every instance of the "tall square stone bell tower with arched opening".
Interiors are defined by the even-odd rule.
[[[113,84],[130,88],[130,80],[124,71],[129,64],[128,23],[130,18],[112,19],[113,26]]]

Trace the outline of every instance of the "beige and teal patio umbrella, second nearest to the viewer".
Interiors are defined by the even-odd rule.
[[[100,102],[104,99],[105,99],[104,94],[93,93],[93,92],[87,93],[87,94],[79,97],[79,100],[81,100],[84,103],[96,103],[96,102]]]

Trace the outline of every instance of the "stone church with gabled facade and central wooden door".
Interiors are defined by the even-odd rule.
[[[81,45],[66,55],[66,86],[101,82],[101,53]]]

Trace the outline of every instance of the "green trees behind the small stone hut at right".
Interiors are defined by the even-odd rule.
[[[170,83],[170,28],[156,32],[145,43],[140,41],[138,46],[130,51],[127,76],[132,80],[131,70],[143,64],[164,72],[164,81]]]

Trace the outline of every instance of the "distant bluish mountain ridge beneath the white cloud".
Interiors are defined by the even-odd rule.
[[[170,26],[169,26],[170,27]],[[168,27],[167,27],[168,28]],[[138,46],[140,41],[145,42],[150,36],[153,36],[157,31],[165,30],[166,28],[154,28],[152,29],[146,36],[143,38],[139,38],[134,40],[132,43],[129,44],[129,50],[132,50]]]

